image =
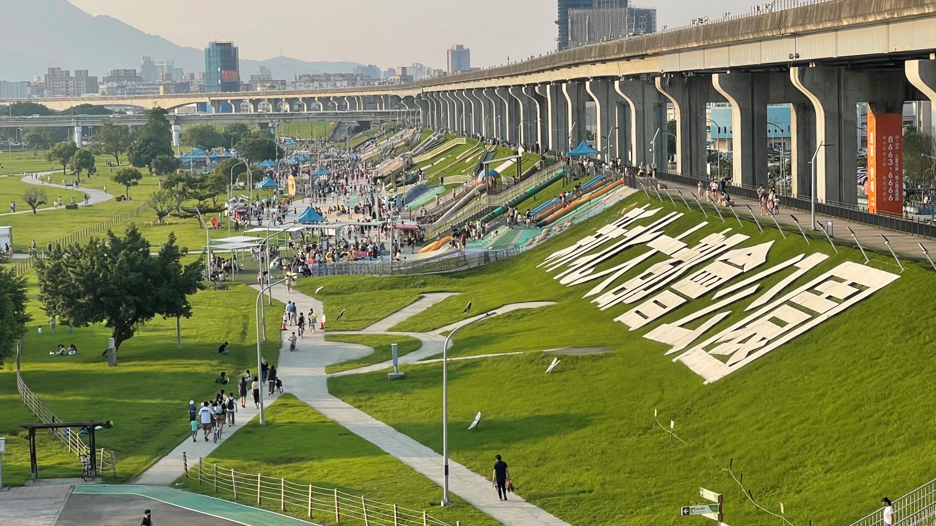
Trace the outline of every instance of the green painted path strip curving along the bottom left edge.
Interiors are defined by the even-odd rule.
[[[293,519],[272,511],[259,509],[243,504],[232,503],[223,499],[215,499],[207,495],[199,495],[183,489],[172,489],[162,486],[131,486],[113,484],[77,484],[72,493],[106,493],[139,495],[172,504],[184,509],[197,511],[205,515],[239,522],[248,526],[299,526],[314,524],[305,520]]]

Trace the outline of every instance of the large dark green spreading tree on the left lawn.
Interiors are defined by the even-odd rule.
[[[73,326],[105,323],[119,349],[140,323],[191,315],[188,296],[201,281],[202,261],[183,265],[184,253],[169,234],[159,255],[151,256],[135,225],[123,237],[109,231],[83,245],[56,246],[37,262],[39,300],[47,314]]]

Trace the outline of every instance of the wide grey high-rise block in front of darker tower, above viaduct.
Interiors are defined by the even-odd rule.
[[[656,31],[656,9],[645,7],[569,9],[568,19],[569,48]]]

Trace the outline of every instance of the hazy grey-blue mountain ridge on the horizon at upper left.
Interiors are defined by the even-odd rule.
[[[109,16],[92,16],[67,0],[0,0],[0,13],[0,80],[32,80],[56,66],[103,77],[114,68],[139,69],[144,55],[174,60],[185,72],[205,70],[203,50],[177,46]],[[299,73],[347,73],[358,63],[283,56],[241,60],[241,79],[250,79],[257,66],[269,67],[274,79],[290,80]]]

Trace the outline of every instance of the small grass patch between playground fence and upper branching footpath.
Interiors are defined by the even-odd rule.
[[[314,296],[325,305],[329,330],[365,329],[406,305],[419,299],[419,284],[427,283],[426,276],[394,278],[386,282],[351,276],[299,280],[296,288],[303,294]],[[393,290],[394,285],[413,285],[408,290]],[[322,286],[317,294],[315,290]],[[342,319],[335,319],[344,309]]]

